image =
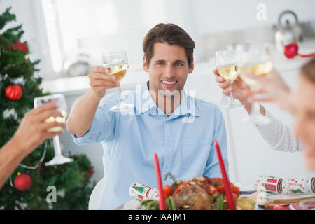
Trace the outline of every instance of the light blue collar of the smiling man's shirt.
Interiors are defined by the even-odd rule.
[[[148,90],[148,83],[136,87],[136,102],[134,104],[137,114],[165,114],[162,109],[158,108],[155,101],[152,99],[152,96]],[[195,97],[190,97],[186,94],[186,91],[183,90],[181,97],[181,104],[174,110],[172,115],[186,116],[190,114],[191,116],[201,116],[201,111],[197,106]],[[171,116],[172,116],[171,115]]]

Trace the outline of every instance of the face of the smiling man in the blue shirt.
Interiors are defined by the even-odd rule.
[[[148,64],[144,57],[144,71],[149,73],[150,86],[155,94],[172,96],[174,90],[181,92],[188,73],[193,72],[194,64],[188,65],[185,49],[180,45],[155,43],[153,57]]]

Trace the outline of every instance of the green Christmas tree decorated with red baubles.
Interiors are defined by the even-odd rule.
[[[3,31],[15,20],[10,8],[0,15],[0,148],[33,108],[34,97],[49,94],[40,87],[42,79],[34,76],[39,60],[32,62],[27,42],[20,41],[22,25]],[[90,160],[86,155],[68,155],[73,162],[46,167],[53,156],[51,139],[27,156],[0,189],[0,209],[87,209],[95,184],[90,183]],[[55,200],[48,198],[49,186],[57,191]]]

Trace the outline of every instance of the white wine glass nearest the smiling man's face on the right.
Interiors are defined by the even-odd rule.
[[[237,66],[235,65],[235,55],[235,50],[216,51],[216,69],[225,80],[230,80],[230,103],[224,106],[225,109],[242,106],[235,102],[233,90],[233,82],[239,76],[239,71],[237,71]]]

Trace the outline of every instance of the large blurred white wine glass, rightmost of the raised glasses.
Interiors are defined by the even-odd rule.
[[[251,90],[261,89],[261,85],[246,74],[251,73],[255,76],[269,76],[272,72],[272,45],[269,43],[241,43],[236,46],[237,66],[239,67],[239,76],[251,87]],[[259,96],[256,95],[255,98]],[[260,113],[259,102],[251,104],[251,114],[249,120],[254,124],[269,123],[269,118]]]

